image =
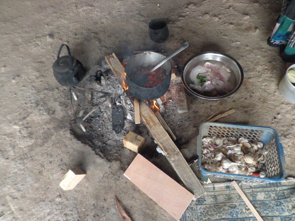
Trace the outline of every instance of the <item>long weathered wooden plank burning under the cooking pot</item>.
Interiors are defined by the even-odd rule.
[[[124,67],[121,65],[120,61],[113,53],[112,55],[108,55],[105,57],[106,62],[109,64],[111,70],[114,75],[117,77],[120,85],[122,85],[124,77]],[[127,95],[130,95],[128,90],[126,91]],[[133,102],[133,98],[130,98],[131,102]],[[181,179],[184,186],[194,194],[194,199],[199,198],[201,195],[205,193],[204,187],[196,177],[196,174],[191,170],[189,164],[187,164],[186,160],[180,153],[177,146],[174,144],[166,130],[161,125],[157,116],[153,112],[152,109],[144,102],[140,101],[140,116],[142,121],[147,126],[148,130],[152,134],[155,141],[157,141],[160,148],[166,154],[166,157],[177,173],[178,177]]]

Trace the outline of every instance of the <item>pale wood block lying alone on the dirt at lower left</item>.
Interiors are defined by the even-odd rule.
[[[85,173],[83,170],[79,168],[70,169],[63,179],[60,181],[60,187],[64,190],[74,189],[76,185],[85,177]]]

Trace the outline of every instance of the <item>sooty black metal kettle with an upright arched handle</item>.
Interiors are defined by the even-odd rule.
[[[59,57],[63,46],[67,47],[68,55]],[[53,63],[52,68],[55,79],[63,86],[75,86],[80,83],[85,76],[85,69],[82,63],[71,56],[70,48],[66,44],[60,46],[57,59]]]

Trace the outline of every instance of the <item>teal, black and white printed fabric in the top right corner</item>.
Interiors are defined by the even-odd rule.
[[[285,62],[295,63],[295,0],[284,0],[281,15],[273,29],[268,45],[281,47],[280,56]]]

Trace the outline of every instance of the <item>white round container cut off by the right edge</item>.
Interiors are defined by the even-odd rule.
[[[287,71],[283,79],[278,85],[278,90],[280,91],[281,95],[289,100],[292,103],[295,103],[295,86],[289,81],[287,72],[290,69],[295,68],[295,64],[291,65]]]

